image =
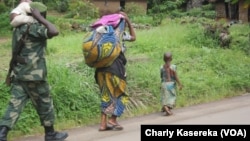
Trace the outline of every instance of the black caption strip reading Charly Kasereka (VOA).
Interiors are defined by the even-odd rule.
[[[141,125],[141,141],[250,141],[250,125]]]

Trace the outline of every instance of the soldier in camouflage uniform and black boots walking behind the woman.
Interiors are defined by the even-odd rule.
[[[12,49],[15,49],[18,40],[23,34],[27,33],[27,36],[19,54],[19,58],[23,61],[17,61],[13,68],[12,96],[7,110],[0,120],[0,141],[7,141],[8,131],[17,122],[29,99],[39,115],[41,125],[44,126],[45,141],[63,141],[68,136],[65,132],[54,131],[53,100],[46,80],[46,40],[57,36],[59,32],[53,24],[44,18],[46,14],[43,15],[41,12],[45,11],[33,8],[33,17],[38,22],[21,25],[13,31]]]

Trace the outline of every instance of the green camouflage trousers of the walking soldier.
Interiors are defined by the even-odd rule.
[[[0,125],[13,128],[23,108],[31,100],[41,125],[54,124],[54,107],[50,88],[46,81],[14,81],[11,86],[11,98]]]

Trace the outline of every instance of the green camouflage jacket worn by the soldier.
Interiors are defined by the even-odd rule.
[[[25,63],[17,63],[13,68],[15,79],[21,81],[41,81],[47,78],[45,48],[47,46],[47,29],[40,23],[24,24],[15,28],[12,37],[12,49],[14,50],[18,40],[27,32],[19,56],[25,59]]]

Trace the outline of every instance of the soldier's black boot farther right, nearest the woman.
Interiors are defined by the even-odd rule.
[[[48,132],[45,134],[45,141],[64,141],[68,137],[66,132]]]

